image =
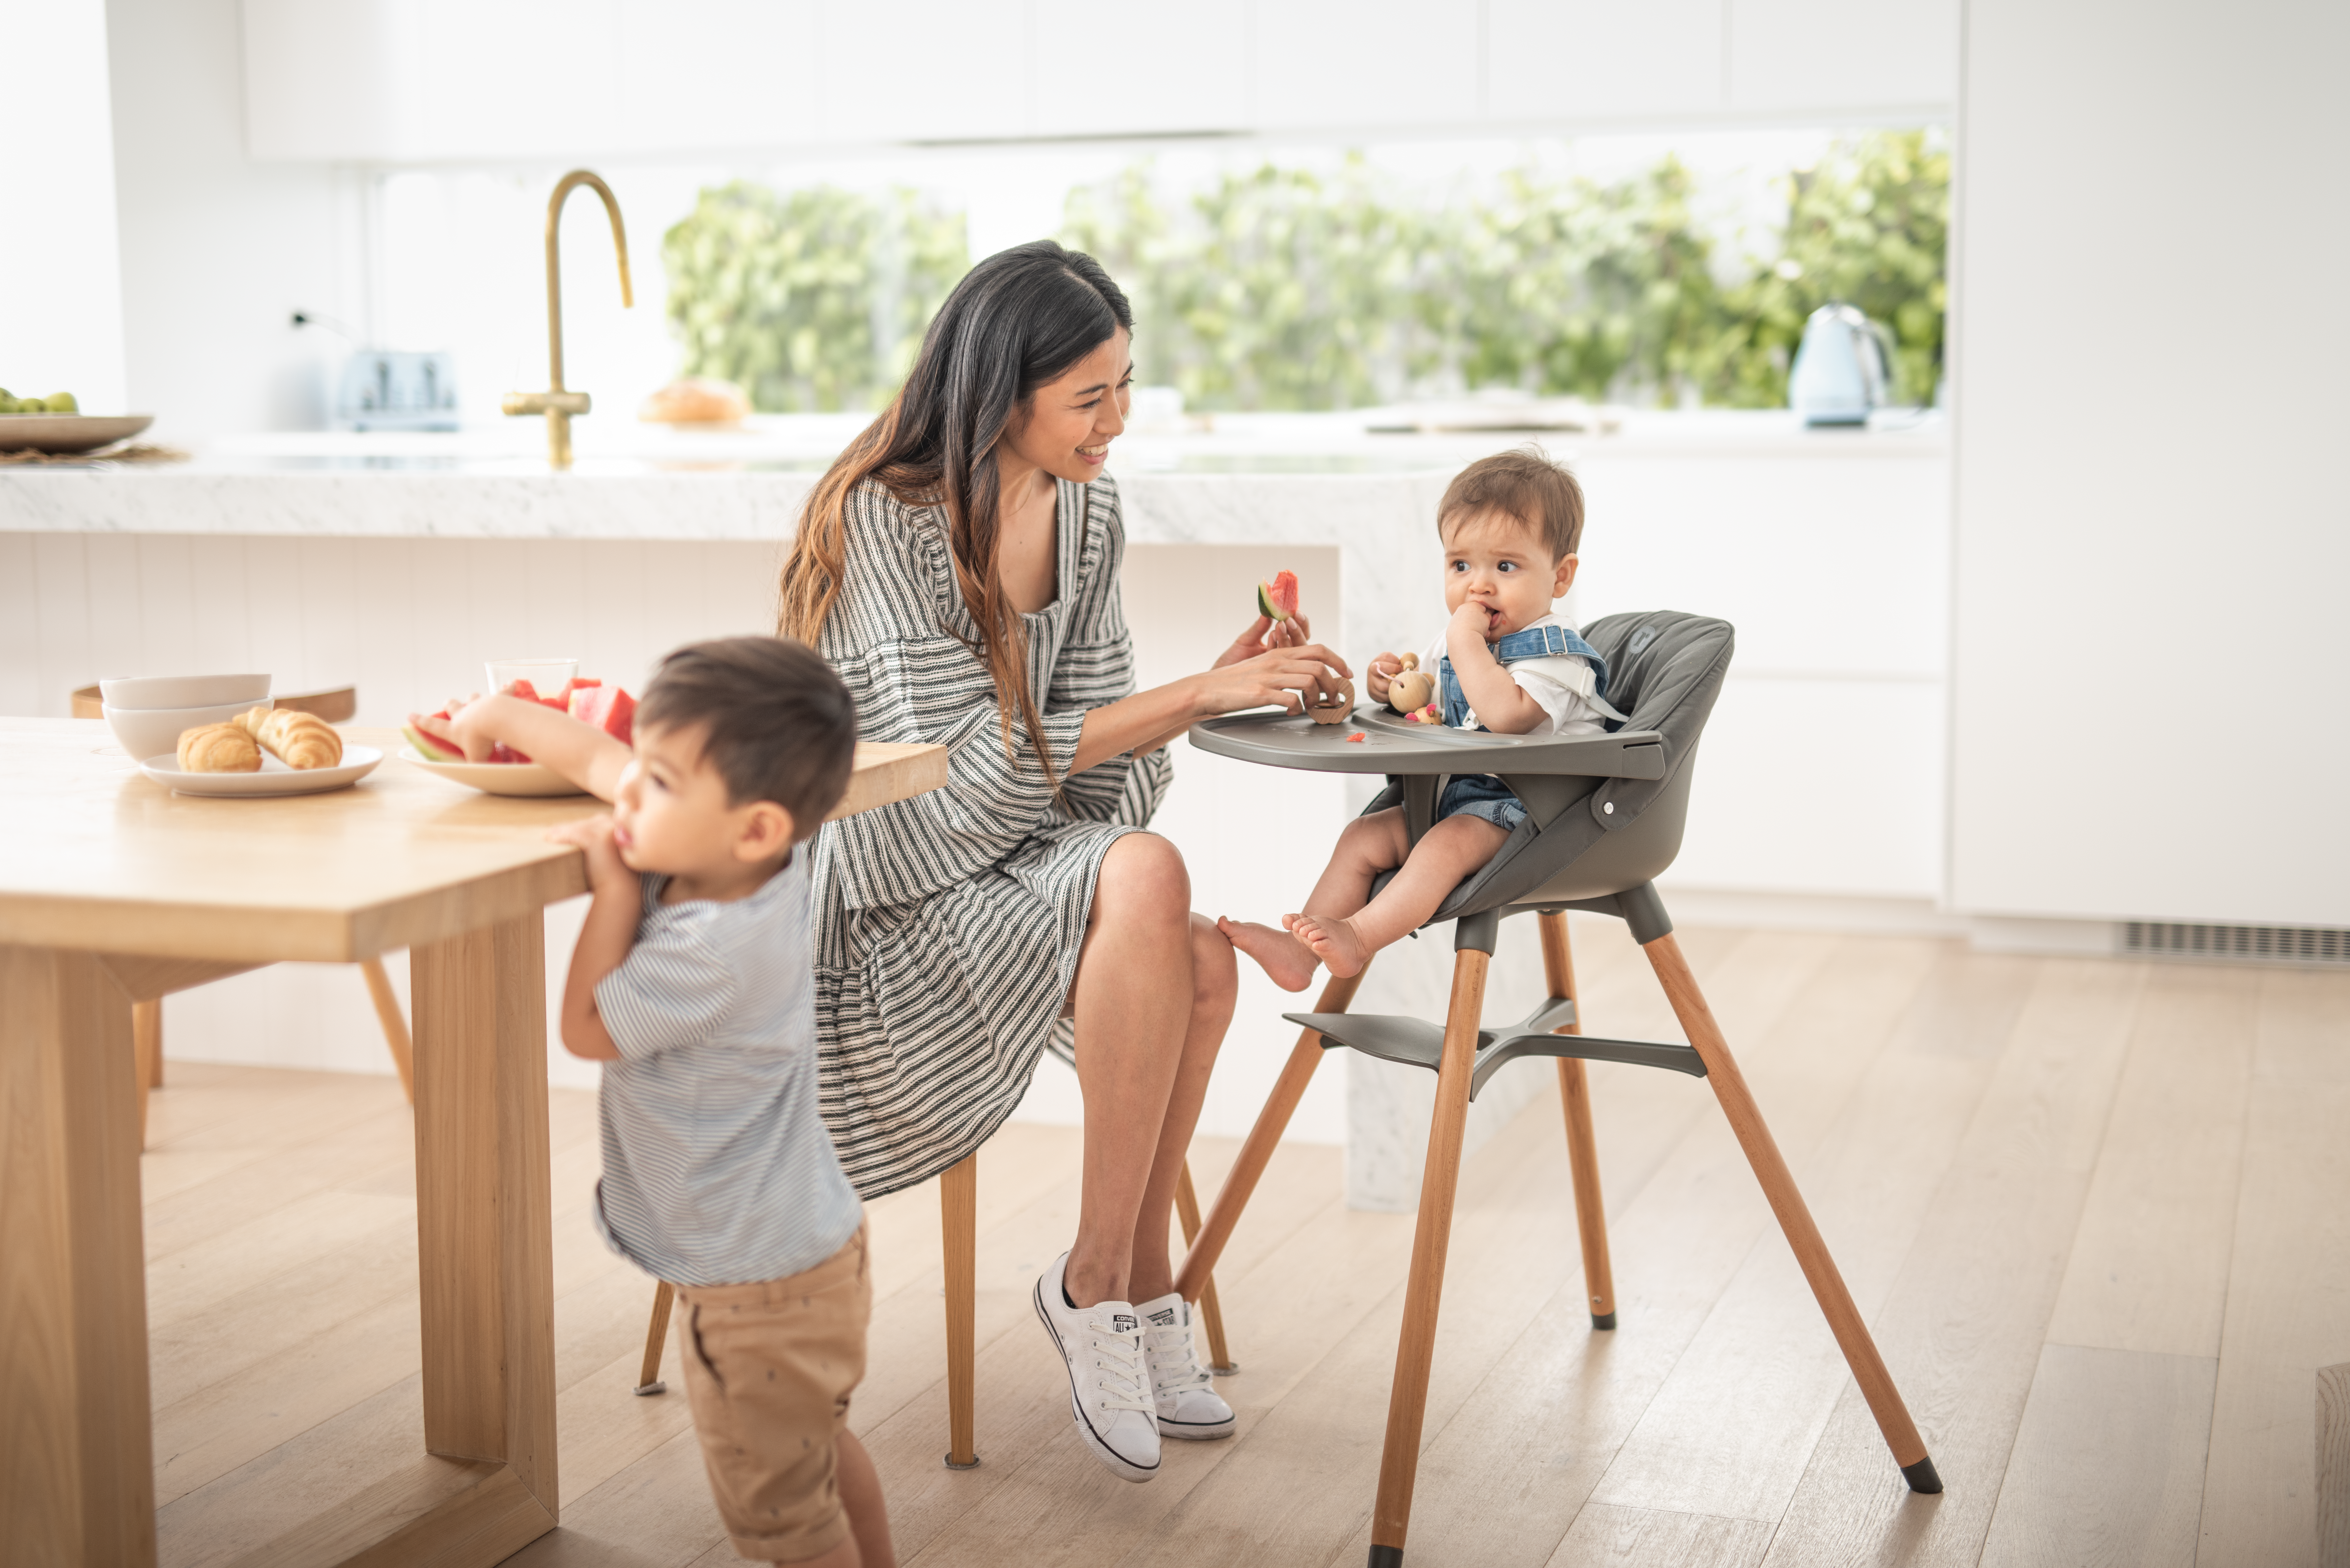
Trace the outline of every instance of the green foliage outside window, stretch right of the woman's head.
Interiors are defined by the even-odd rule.
[[[1941,371],[1948,188],[1939,136],[1854,136],[1788,176],[1772,254],[1732,259],[1676,158],[1614,183],[1513,169],[1441,209],[1384,197],[1349,160],[1229,174],[1166,212],[1137,165],[1074,190],[1062,240],[1135,299],[1140,378],[1201,409],[1488,386],[1784,407],[1802,322],[1828,301],[1892,331],[1922,400]]]

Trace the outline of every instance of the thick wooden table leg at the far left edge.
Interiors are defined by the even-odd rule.
[[[0,1556],[155,1563],[132,999],[0,947]]]

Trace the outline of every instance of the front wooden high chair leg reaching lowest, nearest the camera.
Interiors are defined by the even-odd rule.
[[[1492,940],[1490,931],[1492,926],[1485,940]],[[1452,1194],[1462,1173],[1462,1133],[1469,1124],[1469,1081],[1476,1074],[1476,1030],[1490,961],[1492,957],[1476,947],[1462,947],[1452,959],[1445,1056],[1436,1070],[1436,1114],[1429,1119],[1429,1164],[1419,1178],[1412,1272],[1403,1286],[1396,1385],[1386,1396],[1386,1448],[1379,1455],[1379,1495],[1370,1509],[1370,1568],[1401,1568],[1403,1535],[1412,1523],[1419,1429],[1429,1413],[1429,1359],[1436,1354],[1436,1309],[1445,1291]]]

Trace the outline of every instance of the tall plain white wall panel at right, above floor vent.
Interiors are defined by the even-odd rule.
[[[2350,7],[1969,0],[1950,886],[2350,924]]]

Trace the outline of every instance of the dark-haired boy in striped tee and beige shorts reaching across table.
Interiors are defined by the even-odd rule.
[[[423,724],[423,719],[414,719]],[[848,1432],[865,1375],[865,1215],[815,1114],[808,858],[848,788],[855,705],[811,649],[677,649],[634,750],[489,696],[437,731],[496,741],[613,804],[548,832],[595,903],[562,1037],[604,1063],[597,1229],[677,1286],[679,1359],[738,1554],[893,1568],[881,1481]]]

